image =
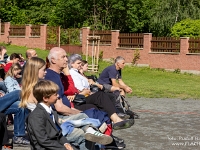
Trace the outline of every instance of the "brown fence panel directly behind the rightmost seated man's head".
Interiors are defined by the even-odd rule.
[[[120,33],[119,47],[126,48],[143,48],[143,34],[142,33]]]

